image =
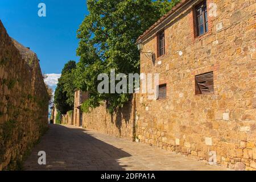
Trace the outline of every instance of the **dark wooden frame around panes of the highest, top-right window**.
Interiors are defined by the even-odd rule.
[[[202,13],[198,14],[197,10],[202,9]],[[208,11],[207,11],[207,0],[200,2],[198,5],[195,6],[195,23],[196,23],[196,36],[201,36],[206,34],[209,31],[209,23],[208,23]],[[206,16],[205,16],[206,13]],[[199,24],[199,17],[203,16],[203,24]],[[200,27],[203,26],[203,33],[200,34]]]

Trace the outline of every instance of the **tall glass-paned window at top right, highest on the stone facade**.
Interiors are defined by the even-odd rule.
[[[197,36],[208,32],[207,3],[201,2],[196,6],[196,29]]]

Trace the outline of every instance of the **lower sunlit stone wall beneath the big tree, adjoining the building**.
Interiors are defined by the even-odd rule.
[[[115,137],[134,140],[135,132],[135,96],[131,97],[128,104],[119,109],[115,114],[108,113],[106,104],[89,113],[82,114],[83,127],[106,133]]]

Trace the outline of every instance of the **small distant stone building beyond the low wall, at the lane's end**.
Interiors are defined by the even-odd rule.
[[[82,110],[81,105],[86,99],[88,99],[88,92],[82,92],[81,90],[75,91],[74,100],[74,112],[73,112],[73,124],[76,126],[82,126]]]

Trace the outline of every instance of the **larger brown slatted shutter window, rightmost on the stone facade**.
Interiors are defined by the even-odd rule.
[[[213,72],[204,73],[195,77],[196,95],[213,93]]]

